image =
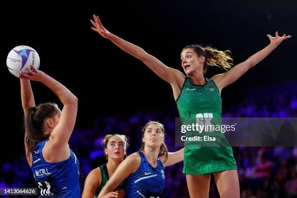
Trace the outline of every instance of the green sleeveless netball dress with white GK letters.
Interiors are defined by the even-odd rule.
[[[206,122],[214,126],[222,124],[222,99],[219,90],[213,80],[205,80],[205,85],[196,85],[188,76],[185,77],[176,101],[182,125],[198,122],[201,126]],[[201,136],[202,141],[184,141],[184,174],[200,175],[237,169],[232,148],[224,133],[217,129],[204,128],[200,132],[187,131],[185,136]],[[204,139],[203,136],[214,137],[215,141],[208,141],[209,138]]]

